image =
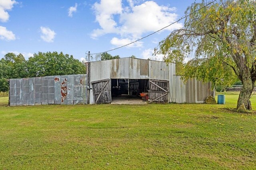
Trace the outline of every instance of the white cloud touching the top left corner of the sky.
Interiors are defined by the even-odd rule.
[[[9,20],[9,14],[6,10],[11,10],[13,5],[17,2],[15,0],[0,0],[0,21],[7,22]]]

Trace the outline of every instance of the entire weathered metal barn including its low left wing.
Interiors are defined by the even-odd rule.
[[[146,94],[148,103],[204,103],[211,83],[176,75],[175,63],[120,58],[86,63],[86,75],[10,79],[9,105],[100,104]]]

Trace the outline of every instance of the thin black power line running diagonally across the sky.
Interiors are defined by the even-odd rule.
[[[167,28],[167,27],[169,27],[169,26],[171,26],[171,25],[173,25],[173,24],[179,22],[180,20],[183,20],[184,18],[187,18],[188,16],[190,16],[190,15],[192,15],[192,14],[198,12],[199,10],[205,8],[206,6],[212,4],[212,3],[216,2],[216,1],[217,1],[217,0],[214,0],[214,1],[210,2],[209,4],[206,4],[206,5],[203,6],[202,8],[199,8],[198,10],[195,10],[194,12],[192,12],[192,13],[186,15],[186,16],[183,16],[183,17],[180,18],[179,20],[173,22],[172,24],[170,24],[170,25],[168,25],[168,26],[165,26],[164,28]],[[151,35],[153,35],[153,34],[156,34],[157,32],[160,32],[160,31],[164,30],[164,28],[161,28],[160,30],[157,30],[157,31],[155,31],[155,32],[153,32],[153,33],[151,33],[151,34],[148,34],[147,36],[142,37],[142,38],[140,38],[140,39],[138,39],[138,40],[136,40],[136,41],[134,41],[134,42],[128,43],[128,44],[126,44],[126,45],[122,45],[122,46],[117,47],[117,48],[114,48],[114,49],[110,49],[110,50],[108,50],[108,51],[100,52],[100,53],[106,53],[106,52],[109,52],[109,51],[114,51],[114,50],[116,50],[116,49],[119,49],[119,48],[125,47],[125,46],[127,46],[127,45],[130,45],[130,44],[132,44],[132,43],[136,43],[136,42],[138,42],[138,41],[140,41],[140,40],[142,40],[142,39],[144,39],[144,38],[147,38],[147,37],[149,37],[149,36],[151,36]],[[100,53],[92,53],[91,55],[100,54]]]

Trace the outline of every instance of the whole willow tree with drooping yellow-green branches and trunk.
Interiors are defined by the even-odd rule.
[[[243,83],[237,109],[243,103],[249,109],[256,81],[255,0],[220,0],[208,6],[202,1],[185,14],[184,27],[162,40],[155,54],[163,54],[166,61],[192,56],[184,69],[186,78],[216,83],[236,75]]]

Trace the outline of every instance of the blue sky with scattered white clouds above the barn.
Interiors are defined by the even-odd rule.
[[[8,52],[57,51],[82,61],[175,22],[194,0],[0,0],[0,58]],[[184,20],[111,55],[153,57],[158,43]],[[93,55],[95,57],[95,55]]]

